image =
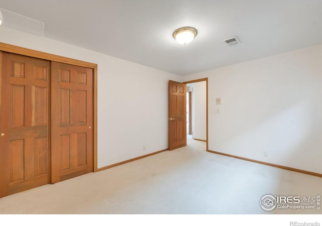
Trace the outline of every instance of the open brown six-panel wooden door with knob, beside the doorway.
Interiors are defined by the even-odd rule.
[[[169,150],[187,145],[186,84],[169,81]]]

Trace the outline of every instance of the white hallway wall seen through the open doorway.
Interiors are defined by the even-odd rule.
[[[207,140],[206,136],[206,81],[188,84],[193,88],[193,138]]]

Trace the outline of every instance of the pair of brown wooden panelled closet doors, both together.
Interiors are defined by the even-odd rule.
[[[0,52],[0,197],[93,172],[93,69]]]

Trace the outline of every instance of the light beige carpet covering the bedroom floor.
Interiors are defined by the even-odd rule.
[[[97,173],[0,199],[15,214],[265,214],[265,194],[315,196],[322,179],[205,151],[205,143],[166,151]]]

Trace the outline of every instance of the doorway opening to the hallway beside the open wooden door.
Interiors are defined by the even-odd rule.
[[[187,141],[206,142],[208,150],[208,78],[187,84]],[[189,143],[189,142],[187,142]]]

